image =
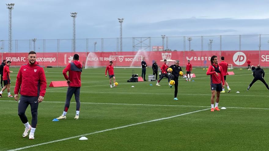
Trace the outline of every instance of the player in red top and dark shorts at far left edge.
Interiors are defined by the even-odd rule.
[[[6,65],[4,66],[3,69],[3,81],[4,81],[4,88],[2,88],[1,92],[0,92],[0,98],[2,98],[2,93],[7,89],[7,97],[11,98],[13,97],[10,94],[10,77],[9,77],[9,73],[13,73],[13,71],[9,70],[9,67],[11,66],[11,61],[7,61]]]

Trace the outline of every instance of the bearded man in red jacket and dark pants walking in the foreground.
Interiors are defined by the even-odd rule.
[[[18,115],[20,120],[25,125],[23,137],[29,134],[29,139],[34,139],[35,128],[37,124],[37,109],[38,104],[43,101],[46,93],[47,81],[44,69],[36,62],[36,53],[30,51],[28,53],[27,64],[20,67],[17,75],[16,86],[14,89],[14,98],[19,101]],[[20,99],[18,93],[20,92]],[[30,104],[32,113],[32,125],[29,124],[25,115],[25,111]]]

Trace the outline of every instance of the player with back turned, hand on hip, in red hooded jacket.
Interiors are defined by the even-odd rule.
[[[68,72],[68,76],[67,73]],[[63,75],[65,80],[67,80],[68,89],[66,92],[66,100],[64,105],[64,112],[60,117],[57,119],[66,119],[66,113],[70,106],[70,101],[73,96],[75,95],[76,100],[76,116],[74,119],[79,119],[79,111],[80,111],[80,87],[81,87],[81,72],[82,72],[82,64],[79,62],[79,55],[75,54],[73,56],[73,62],[69,63],[63,70]]]

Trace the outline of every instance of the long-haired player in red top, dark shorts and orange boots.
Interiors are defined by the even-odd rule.
[[[208,67],[206,75],[210,75],[210,87],[211,87],[211,94],[212,94],[211,112],[214,112],[214,110],[219,111],[219,108],[218,108],[219,95],[220,95],[220,91],[224,88],[225,82],[224,82],[224,77],[222,74],[222,67],[218,65],[218,57],[212,56],[210,61],[211,61],[211,66]],[[216,105],[214,108],[215,95],[217,95],[217,97],[216,97]]]

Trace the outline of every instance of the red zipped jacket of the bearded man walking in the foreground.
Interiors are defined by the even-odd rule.
[[[47,81],[44,69],[38,65],[38,62],[27,63],[20,67],[14,94],[18,94],[20,91],[21,95],[44,97],[46,87]]]

